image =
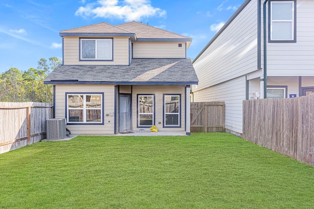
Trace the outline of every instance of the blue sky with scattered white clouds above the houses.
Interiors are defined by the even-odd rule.
[[[244,0],[1,0],[0,73],[62,58],[59,31],[137,21],[193,38],[195,58]]]

